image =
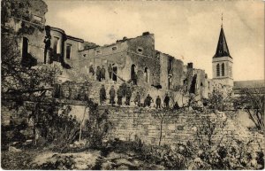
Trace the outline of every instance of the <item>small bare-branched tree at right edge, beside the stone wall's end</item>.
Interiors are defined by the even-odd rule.
[[[249,118],[254,121],[258,129],[264,131],[264,103],[265,103],[265,88],[241,89],[240,96],[235,99],[234,105],[236,108],[241,108],[246,111]]]

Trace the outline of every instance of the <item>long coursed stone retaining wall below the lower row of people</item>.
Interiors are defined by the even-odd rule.
[[[100,107],[104,111],[106,107]],[[226,141],[230,138],[243,140],[247,143],[253,139],[254,146],[259,144],[265,146],[264,136],[258,133],[251,133],[246,128],[240,126],[235,120],[227,119],[225,127],[220,127],[222,120],[226,119],[224,113],[201,114],[195,112],[166,113],[161,110],[136,108],[136,107],[108,107],[109,118],[112,122],[109,138],[119,138],[121,140],[133,140],[134,136],[146,144],[159,144],[159,137],[162,127],[161,144],[186,144],[187,141],[194,142],[196,139],[196,129],[203,127],[203,120],[207,118],[216,120],[216,134],[213,140],[216,142]],[[164,115],[164,118],[163,118]],[[162,123],[163,120],[163,124]],[[205,140],[207,141],[207,140]],[[264,149],[263,149],[264,150]]]

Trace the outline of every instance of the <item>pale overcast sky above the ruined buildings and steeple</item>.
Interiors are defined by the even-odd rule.
[[[46,24],[99,45],[149,31],[155,49],[205,69],[223,29],[234,62],[234,80],[264,79],[264,3],[255,1],[62,1],[48,4]]]

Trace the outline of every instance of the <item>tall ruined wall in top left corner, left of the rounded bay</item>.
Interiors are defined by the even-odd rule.
[[[34,64],[42,62],[47,4],[42,0],[21,2],[4,0],[3,10],[6,12],[4,28],[14,30],[15,35],[21,35],[18,41],[21,55],[23,51],[22,58],[29,58]]]

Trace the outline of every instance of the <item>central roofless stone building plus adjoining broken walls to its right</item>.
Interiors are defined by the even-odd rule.
[[[155,51],[155,35],[148,32],[135,38],[80,51],[79,68],[87,73],[88,66],[113,67],[115,82],[130,82],[137,74],[139,85],[174,89],[182,85],[183,62],[161,51]],[[109,75],[107,76],[109,78]]]

